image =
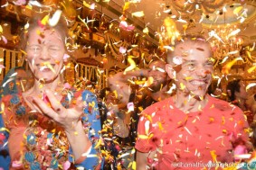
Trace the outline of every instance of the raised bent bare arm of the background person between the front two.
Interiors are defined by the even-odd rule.
[[[111,91],[116,91],[121,103],[128,103],[129,95],[131,94],[131,88],[128,85],[128,79],[133,76],[147,76],[146,69],[139,69],[124,72],[119,72],[116,75],[109,76],[109,87]]]

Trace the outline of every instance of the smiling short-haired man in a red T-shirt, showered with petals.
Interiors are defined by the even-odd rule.
[[[209,43],[192,36],[177,41],[168,53],[166,72],[175,80],[176,93],[142,113],[137,170],[233,166],[233,149],[247,145],[248,123],[242,110],[206,94],[212,56]]]

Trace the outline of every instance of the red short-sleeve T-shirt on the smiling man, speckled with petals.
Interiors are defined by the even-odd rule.
[[[137,127],[136,148],[140,152],[157,148],[156,169],[202,169],[215,160],[233,161],[232,143],[237,139],[248,140],[248,123],[238,107],[208,97],[209,102],[201,112],[182,112],[175,108],[172,98],[143,112]]]

